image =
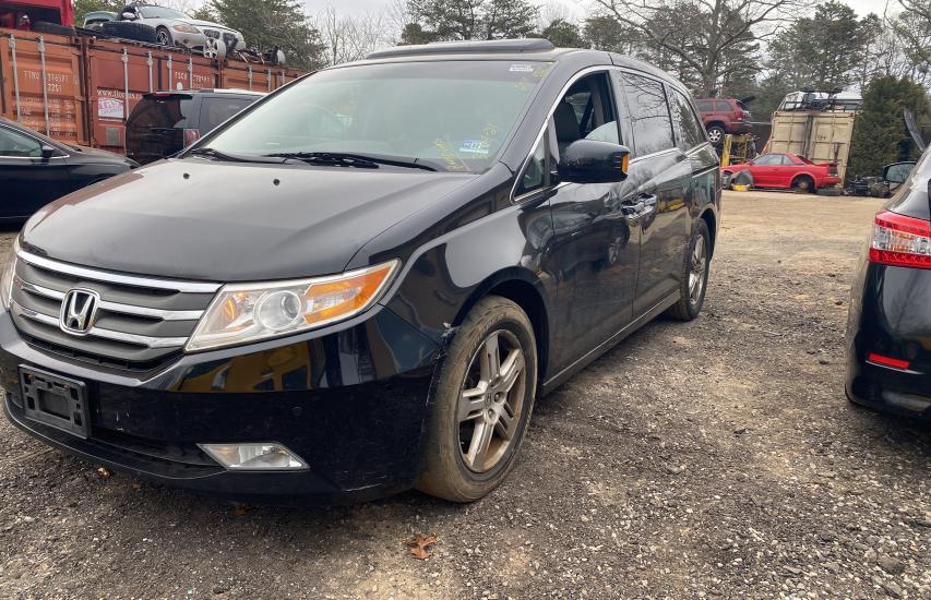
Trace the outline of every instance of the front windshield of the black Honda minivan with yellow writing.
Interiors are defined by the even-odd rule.
[[[290,84],[200,146],[238,156],[397,157],[480,172],[548,69],[514,61],[330,69]]]

